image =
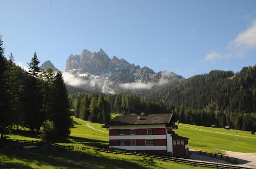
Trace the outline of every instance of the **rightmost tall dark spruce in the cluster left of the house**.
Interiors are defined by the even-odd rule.
[[[52,121],[55,124],[57,135],[67,138],[72,127],[72,119],[67,89],[60,71],[54,77],[52,97]]]

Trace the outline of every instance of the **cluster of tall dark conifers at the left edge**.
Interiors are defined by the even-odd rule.
[[[39,134],[46,121],[54,128],[54,137],[65,138],[70,134],[72,119],[62,74],[55,74],[52,69],[42,71],[39,63],[35,52],[28,71],[15,65],[12,53],[9,59],[5,58],[0,36],[1,138],[14,126],[17,130],[24,126]]]

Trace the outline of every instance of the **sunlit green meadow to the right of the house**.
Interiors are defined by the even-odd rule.
[[[190,127],[195,127],[201,130]],[[190,149],[214,152],[214,149],[218,148],[220,150],[235,151],[242,153],[256,153],[256,136],[250,134],[250,132],[248,131],[239,131],[238,135],[250,136],[253,138],[238,136],[238,142],[236,142],[236,136],[225,135],[235,134],[234,131],[236,130],[226,130],[223,128],[203,127],[189,124],[178,124],[178,129],[175,130],[177,134],[189,138],[188,142]]]

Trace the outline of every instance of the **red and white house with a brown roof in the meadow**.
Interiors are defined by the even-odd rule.
[[[188,156],[188,138],[175,134],[173,114],[117,116],[109,126],[109,147],[156,155]]]

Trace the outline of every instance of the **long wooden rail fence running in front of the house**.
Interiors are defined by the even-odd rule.
[[[205,166],[205,167],[213,167],[213,168],[223,168],[223,169],[249,169],[248,167],[236,166],[236,165],[229,165],[229,164],[221,164],[221,163],[212,163],[212,162],[200,162],[195,160],[183,159],[183,158],[175,158],[175,157],[166,157],[166,156],[158,156],[158,155],[146,155],[146,154],[138,154],[132,152],[118,152],[118,151],[109,151],[105,149],[94,149],[95,151],[104,152],[104,153],[111,153],[111,154],[123,154],[123,155],[135,155],[141,157],[148,157],[152,159],[159,159],[163,161],[174,161],[177,163],[183,163],[188,165],[194,166]]]

